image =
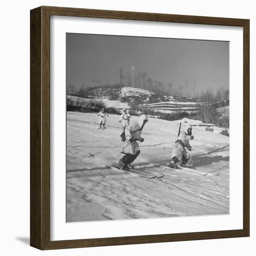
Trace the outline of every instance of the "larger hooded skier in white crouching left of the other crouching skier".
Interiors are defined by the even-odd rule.
[[[133,168],[130,164],[140,155],[139,144],[137,141],[143,142],[141,132],[148,121],[147,115],[141,115],[139,121],[134,121],[125,128],[125,141],[121,146],[121,153],[125,154],[118,162],[117,168],[127,169]]]

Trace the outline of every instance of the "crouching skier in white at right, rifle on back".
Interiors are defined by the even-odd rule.
[[[190,154],[186,151],[186,148],[191,151],[189,140],[193,139],[194,136],[192,135],[192,126],[187,124],[173,145],[172,160],[168,163],[168,167],[176,168],[179,165],[183,167],[187,166]]]

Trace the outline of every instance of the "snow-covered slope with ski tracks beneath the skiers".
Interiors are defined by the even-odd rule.
[[[148,162],[170,160],[179,121],[149,118],[134,163],[165,176],[147,179],[106,167],[122,157],[118,120],[109,115],[98,130],[97,115],[67,112],[67,222],[229,214],[229,137],[193,127],[195,169],[220,175],[159,168]]]

